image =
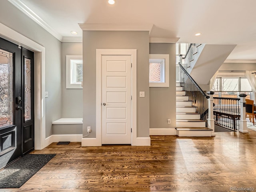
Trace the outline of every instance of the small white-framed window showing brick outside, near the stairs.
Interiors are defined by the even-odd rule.
[[[149,55],[149,86],[169,87],[169,55]]]

